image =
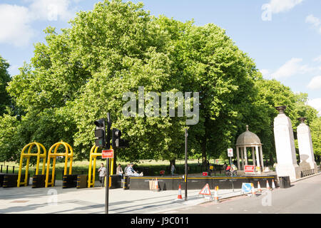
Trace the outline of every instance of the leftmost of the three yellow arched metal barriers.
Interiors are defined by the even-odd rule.
[[[31,153],[32,147],[36,145],[38,152],[37,153]],[[24,151],[28,149],[28,153],[25,153]],[[41,154],[41,148],[44,151],[44,153]],[[22,162],[24,161],[24,158],[26,157],[27,162],[26,162],[26,172],[24,175],[24,182],[21,181],[21,169],[22,169]],[[20,187],[20,185],[27,185],[27,180],[28,180],[28,171],[29,171],[29,161],[31,157],[37,157],[37,162],[36,162],[36,173],[35,175],[39,174],[39,163],[40,163],[40,158],[44,160],[44,164],[42,165],[42,171],[41,174],[44,175],[45,171],[45,164],[46,164],[46,148],[44,145],[42,145],[39,142],[31,142],[28,145],[25,145],[24,148],[21,150],[21,155],[20,155],[20,165],[19,165],[19,173],[18,173],[18,180],[17,180],[17,187]]]

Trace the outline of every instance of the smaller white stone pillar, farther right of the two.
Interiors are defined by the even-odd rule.
[[[300,152],[300,170],[315,170],[317,173],[317,163],[313,154],[311,131],[309,126],[305,124],[306,118],[298,118],[301,121],[297,126],[297,143]]]

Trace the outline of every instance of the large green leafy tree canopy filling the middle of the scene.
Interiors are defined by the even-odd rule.
[[[34,45],[31,62],[9,83],[7,90],[22,114],[21,120],[12,111],[0,118],[2,160],[16,160],[34,140],[46,148],[66,141],[76,159],[88,159],[93,121],[107,113],[113,128],[130,140],[130,147],[117,152],[123,160],[183,157],[186,127],[191,157],[204,162],[224,157],[246,124],[265,144],[265,156],[273,157],[276,105],[288,106],[294,127],[296,118],[305,115],[313,128],[320,128],[306,94],[263,79],[253,59],[214,24],[151,16],[142,3],[121,0],[99,2],[92,11],[78,12],[70,24],[59,33],[46,28],[46,43]],[[177,115],[124,116],[123,94],[136,93],[138,100],[138,87],[159,96],[198,92],[198,123],[186,125],[186,116]],[[145,110],[149,103],[146,99]],[[320,142],[320,135],[314,140]]]

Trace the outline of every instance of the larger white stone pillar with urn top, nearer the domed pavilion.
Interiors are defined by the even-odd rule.
[[[289,176],[290,181],[300,178],[300,167],[297,165],[295,155],[295,140],[293,136],[292,123],[284,110],[286,106],[275,107],[279,114],[274,119],[275,149],[277,154],[277,165],[275,167],[277,176]]]

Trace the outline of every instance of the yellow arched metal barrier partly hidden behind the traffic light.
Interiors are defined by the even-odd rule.
[[[113,147],[111,147],[113,149]],[[89,169],[88,169],[88,187],[95,187],[95,176],[96,176],[96,160],[97,157],[101,156],[101,152],[97,152],[98,147],[96,145],[93,145],[91,147],[91,154],[89,157]],[[109,160],[110,170],[109,173],[113,175],[113,158]],[[91,178],[91,172],[93,173],[93,177]],[[105,183],[106,183],[106,177],[105,177]],[[111,177],[109,177],[109,187],[111,187]]]

